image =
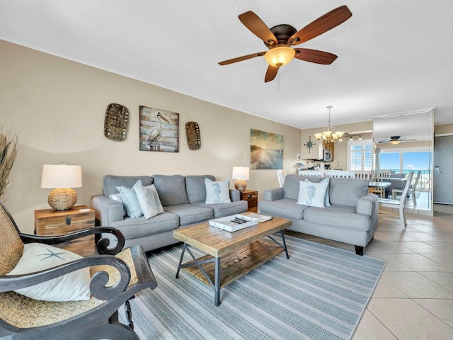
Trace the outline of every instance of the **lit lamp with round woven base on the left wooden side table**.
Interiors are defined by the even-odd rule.
[[[77,202],[77,193],[72,188],[81,188],[82,170],[80,165],[44,164],[42,166],[41,188],[53,188],[47,203],[55,210],[71,209]]]

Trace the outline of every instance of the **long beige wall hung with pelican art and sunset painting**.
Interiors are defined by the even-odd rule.
[[[23,232],[33,231],[33,211],[49,208],[40,188],[42,164],[79,164],[83,187],[77,204],[101,193],[105,174],[213,174],[231,179],[233,166],[250,164],[250,129],[284,136],[284,168],[294,165],[300,130],[217,106],[158,86],[64,60],[0,40],[0,124],[16,128],[19,152],[11,185],[1,200]],[[103,136],[105,108],[130,111],[124,142]],[[178,153],[139,151],[139,106],[180,114]],[[200,125],[202,147],[188,149],[185,123]],[[275,170],[252,170],[248,188],[277,187]]]

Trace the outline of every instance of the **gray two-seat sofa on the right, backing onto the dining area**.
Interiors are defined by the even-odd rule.
[[[297,204],[299,181],[312,182],[322,177],[288,175],[282,188],[263,192],[258,209],[263,215],[292,220],[289,230],[355,245],[356,254],[363,255],[365,246],[377,229],[379,198],[368,193],[366,179],[329,179],[331,206],[309,207]]]

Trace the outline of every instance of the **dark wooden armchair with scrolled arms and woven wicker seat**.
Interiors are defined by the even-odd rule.
[[[117,237],[115,249],[108,249],[108,240],[98,237],[96,246],[100,255],[36,273],[6,276],[21,259],[24,243],[57,244],[101,233]],[[124,245],[124,237],[110,227],[94,227],[64,237],[21,234],[1,203],[0,234],[0,339],[139,339],[132,321],[129,320],[128,325],[118,322],[117,310],[125,304],[130,318],[128,300],[141,290],[156,288],[141,246],[132,246],[117,254]],[[13,292],[87,267],[91,272],[90,300],[48,302]]]

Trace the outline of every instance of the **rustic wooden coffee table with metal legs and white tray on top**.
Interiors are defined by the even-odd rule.
[[[236,232],[216,229],[211,227],[209,222],[176,229],[173,231],[173,237],[184,242],[176,278],[179,277],[180,268],[184,268],[195,278],[210,285],[214,290],[214,303],[218,306],[220,289],[225,285],[273,259],[284,250],[286,258],[289,259],[283,229],[290,225],[290,220],[273,217],[270,221]],[[275,233],[280,234],[281,243],[273,237]],[[273,242],[263,240],[265,237],[269,237]],[[197,259],[189,246],[207,255]],[[185,251],[188,251],[193,261],[183,263]]]

